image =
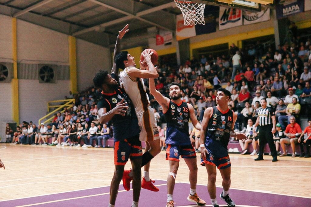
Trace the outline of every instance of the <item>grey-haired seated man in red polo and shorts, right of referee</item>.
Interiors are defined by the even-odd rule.
[[[281,154],[280,157],[287,155],[285,144],[290,144],[290,146],[293,150],[292,157],[296,157],[296,155],[295,155],[295,144],[298,143],[298,137],[300,136],[301,133],[302,133],[301,128],[300,128],[299,124],[296,123],[295,116],[291,116],[290,117],[290,124],[288,124],[286,129],[285,129],[285,135],[287,136],[287,138],[282,138],[280,140],[281,147],[283,149],[283,154]]]

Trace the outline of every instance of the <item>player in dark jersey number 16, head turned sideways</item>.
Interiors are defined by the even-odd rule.
[[[222,177],[223,191],[220,198],[228,206],[235,206],[229,197],[231,183],[231,163],[228,154],[230,137],[246,139],[244,133],[234,133],[234,123],[237,115],[228,108],[230,92],[224,88],[218,89],[216,96],[217,106],[209,107],[204,111],[200,134],[201,164],[205,165],[208,175],[207,190],[213,207],[218,207],[216,200],[216,167]]]

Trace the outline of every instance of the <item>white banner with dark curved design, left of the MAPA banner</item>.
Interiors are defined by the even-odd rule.
[[[264,5],[261,6],[261,11],[259,12],[243,11],[244,25],[250,25],[268,20],[270,20],[270,9]]]

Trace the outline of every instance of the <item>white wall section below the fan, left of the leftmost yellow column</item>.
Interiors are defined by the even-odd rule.
[[[0,121],[12,120],[11,83],[0,83]]]

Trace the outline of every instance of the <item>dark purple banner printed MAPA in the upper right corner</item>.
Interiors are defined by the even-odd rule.
[[[276,4],[276,18],[281,19],[286,16],[297,14],[304,11],[304,0],[280,0]]]

